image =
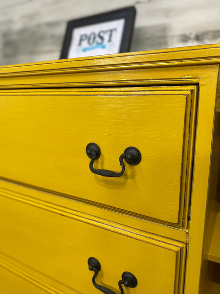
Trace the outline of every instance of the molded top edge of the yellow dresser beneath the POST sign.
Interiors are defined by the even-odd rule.
[[[143,67],[167,67],[220,63],[220,44],[199,45],[170,49],[126,52],[111,55],[70,58],[23,65],[0,66],[0,77],[4,75],[25,75],[39,72],[68,73],[80,71],[103,71]],[[38,73],[38,74],[39,74]]]

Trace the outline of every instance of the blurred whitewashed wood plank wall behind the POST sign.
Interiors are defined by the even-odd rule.
[[[68,20],[130,5],[131,51],[220,43],[220,0],[0,0],[0,65],[59,59]]]

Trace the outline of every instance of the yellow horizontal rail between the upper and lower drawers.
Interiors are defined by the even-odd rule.
[[[31,191],[31,192],[30,192]],[[88,219],[99,223],[99,225],[108,225],[108,229],[113,230],[116,226],[124,231],[132,229],[136,234],[149,237],[149,234],[155,236],[155,239],[164,236],[173,240],[187,243],[188,230],[168,225],[161,225],[156,222],[146,221],[134,216],[122,214],[121,212],[104,210],[102,207],[83,203],[64,195],[47,193],[8,181],[0,180],[0,193],[2,196],[9,197],[16,201],[30,203],[37,207],[43,207],[44,210],[54,211],[58,214],[71,215],[77,220]],[[31,194],[31,196],[29,196]]]

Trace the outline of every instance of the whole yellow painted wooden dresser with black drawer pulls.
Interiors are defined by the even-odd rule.
[[[0,293],[220,293],[220,45],[0,67]]]

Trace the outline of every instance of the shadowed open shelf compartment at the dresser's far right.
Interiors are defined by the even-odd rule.
[[[220,293],[220,77],[213,132],[200,293]]]

